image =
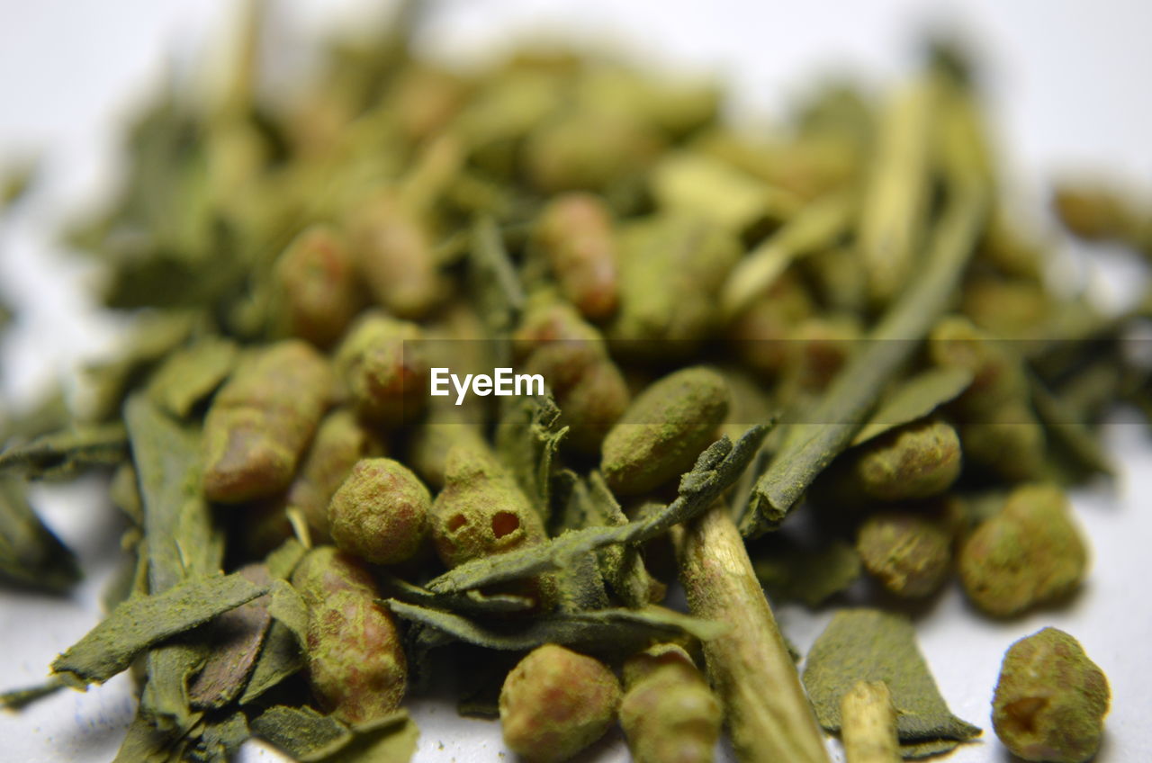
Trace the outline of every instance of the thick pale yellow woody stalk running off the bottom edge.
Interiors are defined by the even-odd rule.
[[[737,758],[827,763],[796,665],[726,506],[675,528],[674,539],[692,614],[729,626],[705,642],[704,657]]]

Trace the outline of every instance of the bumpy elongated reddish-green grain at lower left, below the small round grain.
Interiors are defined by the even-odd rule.
[[[308,605],[308,679],[320,704],[347,723],[400,707],[408,663],[392,613],[363,564],[332,546],[301,560],[293,586]]]

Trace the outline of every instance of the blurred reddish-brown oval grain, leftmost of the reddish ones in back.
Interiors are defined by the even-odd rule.
[[[276,260],[281,319],[293,337],[327,347],[359,310],[361,294],[348,244],[333,228],[313,225]]]

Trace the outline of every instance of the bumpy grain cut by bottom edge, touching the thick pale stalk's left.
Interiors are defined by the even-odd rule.
[[[723,711],[692,658],[657,644],[624,663],[620,725],[637,763],[710,763]]]

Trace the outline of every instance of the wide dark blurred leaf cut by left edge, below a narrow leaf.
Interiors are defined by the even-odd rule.
[[[76,557],[29,505],[24,481],[0,473],[0,580],[62,594],[79,579]]]

